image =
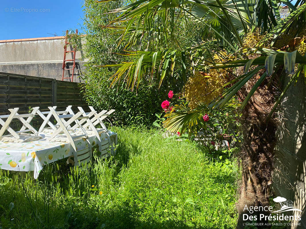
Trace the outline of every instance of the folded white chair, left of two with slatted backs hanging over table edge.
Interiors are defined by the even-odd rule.
[[[73,114],[65,114],[65,115],[58,115],[53,107],[48,107],[50,112],[54,116],[55,120],[58,123],[58,128],[51,134],[50,138],[47,138],[48,141],[65,141],[69,142],[73,148],[73,156],[74,156],[74,165],[80,166],[84,163],[87,165],[91,163],[92,158],[92,150],[91,144],[88,140],[87,133],[83,130],[82,133],[80,132],[73,132],[70,130],[70,125],[73,122],[78,124],[79,120],[88,119],[88,116],[82,116],[82,112],[77,112],[75,115]],[[67,121],[65,119],[69,118]],[[78,124],[80,130],[82,130],[82,125]],[[87,147],[84,149],[77,149],[76,141],[80,139],[85,139],[87,141]]]

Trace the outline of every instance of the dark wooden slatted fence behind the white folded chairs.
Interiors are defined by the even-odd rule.
[[[28,113],[29,107],[48,111],[48,106],[63,110],[68,105],[72,105],[74,111],[78,111],[77,106],[89,111],[81,88],[82,85],[75,82],[0,72],[0,115],[9,114],[8,109],[14,107],[20,108],[20,114]]]

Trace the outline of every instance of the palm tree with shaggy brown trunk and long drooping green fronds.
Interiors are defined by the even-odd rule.
[[[99,1],[105,2],[105,1]],[[282,96],[297,78],[306,77],[305,52],[295,46],[304,41],[306,1],[246,1],[246,0],[139,0],[110,13],[118,17],[103,27],[118,29],[123,41],[130,35],[121,55],[129,61],[103,67],[118,67],[111,77],[112,85],[126,83],[132,90],[140,82],[155,78],[159,86],[173,77],[185,82],[189,69],[209,72],[226,69],[230,86],[211,107],[222,108],[238,95],[242,100],[244,142],[240,155],[242,181],[237,204],[239,213],[247,205],[267,205],[272,184],[275,130],[274,111]],[[289,7],[290,14],[282,19],[280,6]],[[178,32],[178,21],[196,21],[206,28],[211,39],[200,42],[188,40]],[[253,47],[245,47],[248,33],[260,31],[261,39]],[[284,42],[290,34],[293,39]],[[281,49],[277,45],[283,43]],[[132,50],[132,51],[131,51]],[[211,53],[220,56],[213,61]],[[224,53],[227,53],[226,55]],[[234,60],[233,60],[234,59]],[[178,71],[179,76],[174,76]],[[187,72],[187,73],[186,73]],[[280,78],[289,77],[280,90]],[[199,122],[207,108],[181,108],[172,112],[164,122],[171,131]]]

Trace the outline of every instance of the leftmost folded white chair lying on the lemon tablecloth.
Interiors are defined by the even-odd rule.
[[[42,136],[38,134],[38,131],[30,124],[38,109],[39,107],[34,107],[30,114],[19,115],[17,113],[19,108],[16,107],[14,109],[9,109],[11,112],[10,115],[0,115],[0,125],[2,125],[2,128],[0,129],[0,141],[25,142],[42,138]],[[2,118],[6,118],[6,121],[4,122]],[[17,118],[22,123],[22,127],[19,131],[14,131],[9,126],[14,118]],[[25,120],[24,118],[27,119]],[[3,135],[6,130],[10,134]]]

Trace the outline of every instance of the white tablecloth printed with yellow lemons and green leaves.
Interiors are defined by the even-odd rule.
[[[109,131],[111,145],[117,144],[117,134]],[[2,142],[0,141],[0,169],[13,171],[34,171],[34,178],[37,179],[44,165],[53,163],[62,158],[73,155],[73,148],[69,142],[52,142],[46,139],[49,133],[41,134],[40,140],[30,142]],[[89,136],[92,146],[98,144],[95,135]],[[101,133],[101,140],[108,139],[106,133]],[[88,147],[88,142],[84,139],[76,140],[78,150]],[[111,148],[113,151],[113,148]],[[114,152],[111,152],[114,153]]]

